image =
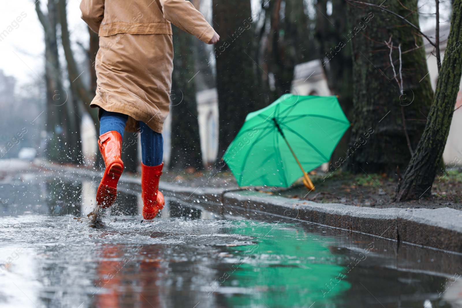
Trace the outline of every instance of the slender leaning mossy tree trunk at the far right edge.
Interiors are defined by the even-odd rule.
[[[462,75],[462,0],[454,0],[451,27],[428,121],[396,188],[396,201],[429,196],[446,145]],[[457,157],[453,163],[459,162]],[[443,170],[444,171],[444,170]]]

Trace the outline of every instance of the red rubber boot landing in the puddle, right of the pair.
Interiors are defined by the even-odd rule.
[[[164,163],[149,167],[141,163],[141,198],[143,199],[143,217],[151,220],[164,208],[164,194],[159,192],[159,179]]]

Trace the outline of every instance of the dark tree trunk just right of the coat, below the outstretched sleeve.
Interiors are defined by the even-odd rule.
[[[195,96],[194,36],[173,31],[173,73],[171,98],[170,169],[203,169]],[[205,123],[204,123],[205,124]]]

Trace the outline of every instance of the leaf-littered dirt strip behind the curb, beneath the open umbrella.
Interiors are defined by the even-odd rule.
[[[430,208],[450,207],[462,209],[462,169],[449,170],[435,178],[432,195],[409,202],[392,202],[397,181],[385,175],[351,175],[345,172],[325,174],[310,173],[316,189],[308,192],[301,180],[289,188],[241,187],[287,198],[306,199],[319,203],[341,203],[376,208]],[[237,183],[231,172],[213,173],[210,171],[164,172],[163,181],[190,187],[228,187],[236,188]]]

